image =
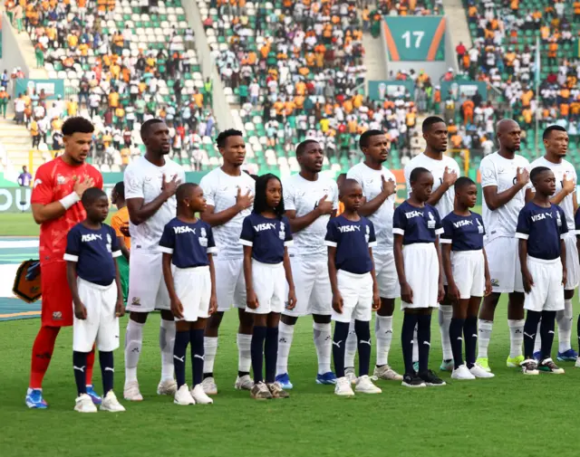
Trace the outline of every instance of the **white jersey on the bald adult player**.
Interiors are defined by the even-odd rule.
[[[481,187],[497,186],[498,193],[516,184],[518,168],[527,168],[526,157],[516,155],[513,159],[501,157],[498,152],[483,157],[479,165]],[[517,216],[526,205],[526,187],[521,189],[506,205],[490,210],[485,196],[482,201],[483,222],[486,225],[486,243],[500,236],[516,236]]]

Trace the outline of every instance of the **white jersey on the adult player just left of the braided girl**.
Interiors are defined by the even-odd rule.
[[[227,175],[220,167],[210,171],[201,178],[199,186],[203,189],[208,205],[214,207],[214,213],[219,213],[236,205],[237,189],[241,195],[256,194],[256,181],[252,176],[242,172],[240,176]],[[236,214],[226,224],[212,227],[219,259],[240,259],[244,256],[244,248],[239,243],[242,224],[252,207]]]

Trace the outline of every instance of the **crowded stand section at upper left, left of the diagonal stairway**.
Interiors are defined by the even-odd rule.
[[[22,2],[21,2],[22,3]],[[146,5],[145,5],[146,4]],[[172,154],[186,169],[210,166],[199,145],[211,143],[211,81],[203,81],[194,34],[179,0],[28,2],[24,27],[37,64],[64,81],[64,99],[23,94],[24,121],[33,146],[62,145],[67,116],[89,116],[96,126],[92,161],[119,171],[140,154],[139,128],[157,116],[168,121]]]

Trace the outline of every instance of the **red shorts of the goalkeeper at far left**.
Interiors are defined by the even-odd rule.
[[[41,264],[43,290],[42,324],[44,327],[69,327],[73,325],[73,296],[66,281],[66,262]]]

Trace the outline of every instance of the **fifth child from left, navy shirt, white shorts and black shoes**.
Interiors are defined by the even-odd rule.
[[[405,374],[402,386],[445,386],[429,369],[431,310],[443,299],[443,275],[439,235],[443,233],[440,216],[429,205],[433,176],[427,168],[416,167],[409,176],[411,195],[395,209],[392,217],[393,252],[401,286],[401,331]],[[419,373],[412,360],[413,333],[417,327]]]

